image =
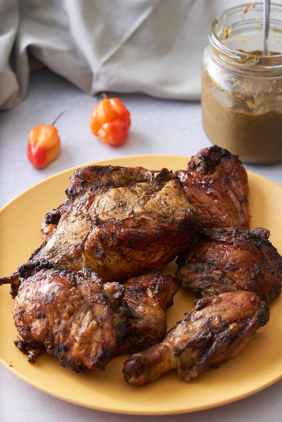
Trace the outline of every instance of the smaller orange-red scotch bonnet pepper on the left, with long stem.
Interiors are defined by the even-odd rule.
[[[63,111],[57,119],[63,114]],[[28,134],[27,157],[35,168],[44,168],[60,152],[60,137],[53,124],[38,124]]]

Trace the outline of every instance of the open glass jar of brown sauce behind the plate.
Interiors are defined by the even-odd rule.
[[[282,5],[271,5],[268,56],[263,4],[214,19],[202,60],[203,126],[212,143],[244,162],[282,161]]]

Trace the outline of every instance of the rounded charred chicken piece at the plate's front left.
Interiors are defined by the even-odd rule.
[[[31,362],[46,348],[62,366],[103,369],[126,331],[122,285],[104,284],[88,268],[73,273],[44,261],[30,273],[15,293],[14,322],[23,339],[16,346]]]

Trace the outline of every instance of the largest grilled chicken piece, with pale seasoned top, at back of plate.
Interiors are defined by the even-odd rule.
[[[201,225],[177,175],[166,169],[93,165],[76,170],[66,193],[46,214],[47,240],[28,263],[88,267],[105,281],[123,281],[173,260]]]

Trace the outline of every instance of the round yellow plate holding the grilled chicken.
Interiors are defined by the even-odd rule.
[[[144,155],[120,157],[98,164],[185,169],[188,157]],[[0,211],[1,274],[7,276],[26,262],[41,243],[40,223],[44,214],[65,197],[64,189],[75,168],[58,173],[27,189]],[[282,253],[282,189],[253,173],[249,174],[252,227],[267,227],[271,242]],[[164,272],[175,271],[174,263]],[[114,359],[105,371],[75,373],[62,368],[47,353],[34,364],[13,344],[17,331],[12,318],[9,286],[0,287],[0,361],[24,381],[62,400],[89,408],[125,414],[173,414],[220,406],[255,393],[282,378],[282,297],[271,305],[269,323],[260,328],[237,357],[192,381],[179,380],[169,372],[141,387],[128,385],[122,374],[126,356]],[[168,327],[193,307],[195,296],[180,291],[168,311]]]

